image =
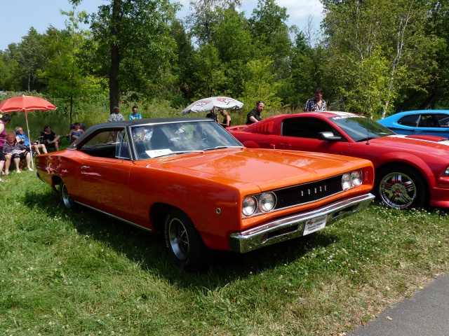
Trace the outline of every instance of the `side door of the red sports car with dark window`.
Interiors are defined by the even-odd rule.
[[[333,132],[339,141],[319,139],[320,132]],[[348,142],[328,121],[319,118],[285,118],[281,123],[281,137],[275,148],[347,155]]]

